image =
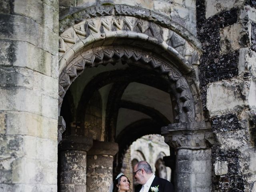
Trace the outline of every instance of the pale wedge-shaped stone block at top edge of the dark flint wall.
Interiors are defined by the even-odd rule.
[[[234,6],[243,4],[244,0],[206,0],[206,18],[209,18],[219,12],[228,10]]]

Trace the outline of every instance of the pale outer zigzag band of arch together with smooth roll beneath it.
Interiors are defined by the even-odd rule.
[[[141,39],[156,44],[177,57],[186,66],[187,72],[193,69],[192,64],[198,64],[198,54],[195,48],[188,44],[184,38],[154,22],[131,16],[104,16],[74,24],[72,28],[68,28],[60,34],[60,61],[64,58],[66,62],[69,62],[69,57],[74,58],[73,56],[86,44],[96,41],[104,41],[98,46],[103,43],[114,43],[113,40],[106,41],[108,38]],[[96,45],[91,46],[96,47]],[[63,62],[60,62],[60,71],[65,67]]]

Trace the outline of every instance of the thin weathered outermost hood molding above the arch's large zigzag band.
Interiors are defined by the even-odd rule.
[[[69,12],[68,16],[60,16],[60,32],[66,30],[70,24],[74,25],[82,20],[104,16],[131,16],[154,22],[162,27],[182,34],[184,37],[189,38],[194,45],[200,47],[200,42],[198,42],[197,38],[182,23],[176,22],[172,17],[154,10],[128,5],[91,6],[88,8],[74,9],[72,12]]]

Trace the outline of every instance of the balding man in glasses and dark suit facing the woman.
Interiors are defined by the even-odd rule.
[[[139,184],[135,192],[174,192],[172,184],[155,176],[146,161],[140,161],[134,166],[133,177]]]

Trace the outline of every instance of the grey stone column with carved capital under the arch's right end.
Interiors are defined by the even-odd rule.
[[[204,123],[177,123],[162,128],[165,142],[176,150],[176,192],[210,192],[212,185],[210,129]]]

